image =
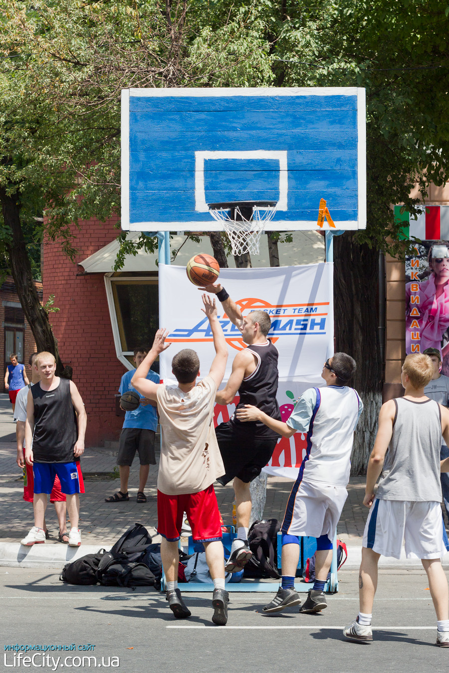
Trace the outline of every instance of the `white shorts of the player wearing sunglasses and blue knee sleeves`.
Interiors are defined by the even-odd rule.
[[[346,499],[347,490],[343,486],[295,482],[281,530],[288,535],[312,538],[327,535],[332,542]]]

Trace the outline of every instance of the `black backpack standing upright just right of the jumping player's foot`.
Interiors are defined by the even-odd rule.
[[[252,557],[244,567],[244,577],[271,577],[279,579],[277,571],[277,533],[281,524],[277,519],[254,521],[248,532]]]

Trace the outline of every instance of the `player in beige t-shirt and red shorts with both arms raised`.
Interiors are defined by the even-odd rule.
[[[162,535],[161,555],[167,579],[167,600],[174,616],[191,616],[178,589],[178,540],[182,515],[186,512],[192,537],[203,542],[213,579],[212,621],[228,621],[228,592],[225,591],[221,521],[213,482],[225,473],[213,427],[213,406],[223,380],[228,348],[217,318],[215,299],[203,295],[203,312],[209,319],[215,358],[209,374],[197,384],[199,357],[184,349],[172,359],[178,385],[166,386],[147,380],[149,367],[165,351],[168,331],[156,332],[151,351],[137,368],[131,384],[145,397],[158,402],[162,446],[158,474],[158,533]]]

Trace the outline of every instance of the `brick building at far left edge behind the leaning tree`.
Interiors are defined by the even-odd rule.
[[[42,283],[34,281],[42,301]],[[11,276],[7,276],[0,287],[0,352],[3,354],[2,392],[6,392],[4,376],[7,365],[11,364],[9,355],[18,354],[20,363],[28,363],[28,357],[36,352],[36,341],[28,324],[24,310],[20,305],[17,289]]]

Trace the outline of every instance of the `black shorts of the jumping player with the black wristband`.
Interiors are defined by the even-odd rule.
[[[261,474],[269,462],[278,437],[254,437],[254,433],[236,432],[231,423],[221,423],[215,428],[225,474],[217,481],[223,486],[234,476],[248,483]]]

